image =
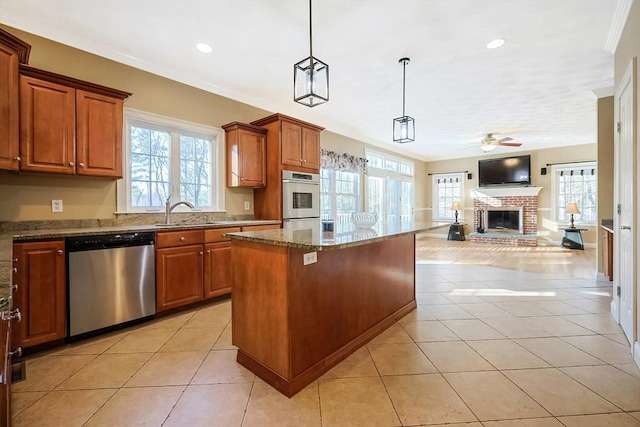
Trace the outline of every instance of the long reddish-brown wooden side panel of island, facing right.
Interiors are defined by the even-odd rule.
[[[309,265],[303,263],[306,252],[289,249],[293,377],[324,359],[333,361],[329,356],[415,304],[413,234],[319,251],[318,262]]]

